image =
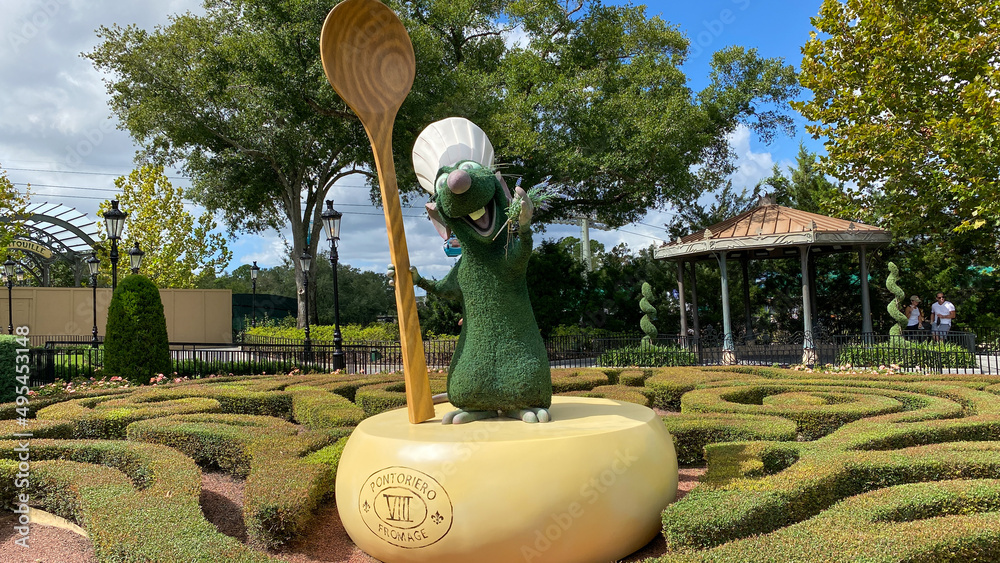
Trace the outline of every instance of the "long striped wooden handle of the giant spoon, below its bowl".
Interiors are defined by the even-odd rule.
[[[392,161],[392,125],[377,127],[375,131],[365,127],[365,130],[375,153],[382,209],[385,211],[385,228],[389,235],[389,254],[392,255],[392,266],[396,271],[396,313],[399,316],[399,342],[403,352],[406,407],[410,423],[417,424],[434,418],[434,400],[427,377],[424,341],[420,338],[420,319],[417,318],[410,255],[406,249],[406,233],[403,231],[396,166]]]

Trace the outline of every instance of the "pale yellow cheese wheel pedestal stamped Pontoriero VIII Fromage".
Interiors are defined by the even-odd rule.
[[[677,457],[652,410],[553,397],[552,422],[364,420],[337,469],[354,543],[386,563],[606,563],[659,533]]]

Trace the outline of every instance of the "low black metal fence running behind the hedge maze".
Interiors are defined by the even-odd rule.
[[[546,341],[553,367],[669,366],[743,364],[788,366],[811,359],[817,364],[855,367],[898,366],[933,373],[982,373],[1000,375],[1000,329],[972,327],[948,333],[940,341],[926,331],[900,336],[842,335],[819,332],[808,335],[811,354],[804,353],[802,333],[724,335],[711,327],[702,334],[660,335],[643,343],[638,335],[611,337],[559,336]],[[34,338],[34,337],[33,337]],[[446,369],[456,340],[424,343],[428,369]],[[32,385],[101,377],[103,348],[92,348],[87,337],[48,337],[32,341]],[[380,373],[403,368],[399,342],[349,342],[342,345],[347,373]],[[200,377],[213,374],[276,374],[293,370],[331,372],[334,344],[247,336],[236,344],[171,343],[174,373],[167,377]]]

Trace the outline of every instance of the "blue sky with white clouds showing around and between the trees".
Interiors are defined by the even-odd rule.
[[[782,57],[798,68],[800,47],[812,29],[809,18],[820,4],[821,0],[655,1],[647,3],[647,14],[678,26],[692,41],[684,71],[697,91],[707,84],[711,53],[728,45],[756,47],[762,56]],[[100,25],[136,23],[149,29],[165,23],[168,14],[197,12],[199,6],[198,0],[0,0],[4,14],[0,166],[10,180],[19,187],[31,183],[33,202],[60,202],[94,215],[100,201],[114,195],[114,178],[133,168],[135,147],[109,119],[101,77],[79,53],[93,48],[94,29]],[[798,119],[793,138],[778,138],[771,145],[763,145],[745,130],[737,131],[731,139],[739,156],[737,187],[752,188],[774,164],[791,165],[799,142],[821,151],[822,144],[810,139],[803,125]],[[185,185],[183,179],[176,183]],[[341,261],[384,271],[389,263],[384,219],[380,209],[368,204],[361,184],[360,178],[348,179],[331,193],[344,213]],[[441,277],[453,259],[444,255],[440,238],[423,217],[422,205],[420,201],[404,210],[410,261],[422,274]],[[651,213],[616,231],[591,231],[591,238],[608,247],[624,242],[638,250],[662,242],[660,227],[667,220],[669,212]],[[555,225],[539,239],[563,236],[579,236],[579,229]],[[230,269],[253,260],[275,266],[285,255],[275,232],[240,235],[230,242],[230,249],[234,253]]]

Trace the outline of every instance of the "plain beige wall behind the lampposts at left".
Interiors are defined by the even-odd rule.
[[[15,287],[14,326],[27,324],[32,335],[90,336],[94,326],[93,289]],[[233,292],[228,289],[161,289],[171,342],[230,343]],[[97,289],[97,334],[104,336],[111,290]],[[0,286],[0,326],[7,333],[7,288]]]

